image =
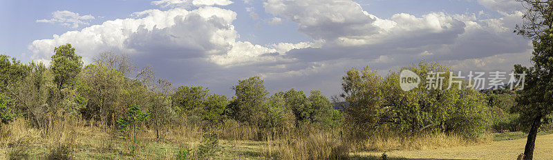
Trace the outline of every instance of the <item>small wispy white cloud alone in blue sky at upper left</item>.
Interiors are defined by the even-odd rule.
[[[79,28],[79,25],[88,25],[94,17],[91,14],[81,16],[79,13],[70,12],[68,10],[52,12],[52,19],[40,19],[39,23],[60,23],[63,26],[71,28]]]

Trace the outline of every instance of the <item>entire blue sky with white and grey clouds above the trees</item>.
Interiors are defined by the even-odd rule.
[[[528,66],[531,43],[513,33],[523,12],[515,0],[1,0],[0,54],[49,63],[71,43],[84,63],[126,54],[174,86],[232,96],[259,76],[270,92],[332,96],[354,67]]]

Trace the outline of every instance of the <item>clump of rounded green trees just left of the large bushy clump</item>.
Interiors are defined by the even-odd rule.
[[[266,97],[268,91],[259,77],[238,81],[233,89],[236,97],[225,114],[238,121],[270,128],[291,128],[303,123],[321,127],[341,124],[341,114],[319,90],[312,90],[310,97],[294,88]]]

